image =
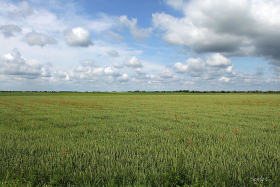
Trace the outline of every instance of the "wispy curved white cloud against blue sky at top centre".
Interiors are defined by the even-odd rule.
[[[132,18],[132,20],[129,20],[126,15],[122,15],[119,17],[119,20],[120,23],[128,26],[130,33],[137,40],[143,39],[151,35],[152,28],[138,28],[136,18]]]

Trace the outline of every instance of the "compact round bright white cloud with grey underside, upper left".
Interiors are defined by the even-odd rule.
[[[89,31],[81,27],[67,29],[64,35],[69,46],[88,47],[93,44]]]

